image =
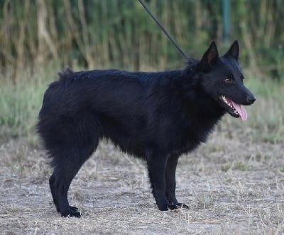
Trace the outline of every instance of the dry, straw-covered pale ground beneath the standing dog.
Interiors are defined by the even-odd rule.
[[[102,142],[70,187],[81,218],[56,212],[44,151],[11,140],[0,147],[1,234],[282,234],[283,143],[246,132],[218,128],[180,158],[176,192],[190,209],[174,212],[157,209],[143,161]]]

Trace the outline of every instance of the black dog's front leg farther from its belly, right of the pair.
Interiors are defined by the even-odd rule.
[[[175,170],[178,165],[178,156],[171,155],[168,158],[167,166],[165,168],[165,196],[169,202],[170,209],[188,209],[186,204],[178,202],[175,197]]]

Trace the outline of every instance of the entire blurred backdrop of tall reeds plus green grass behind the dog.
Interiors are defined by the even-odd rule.
[[[231,41],[239,40],[251,141],[283,141],[284,1],[230,1]],[[222,0],[146,1],[188,55],[200,58],[211,40],[221,53]],[[0,141],[27,137],[48,84],[62,67],[165,70],[185,59],[135,0],[0,0]],[[239,120],[225,124],[241,130]]]

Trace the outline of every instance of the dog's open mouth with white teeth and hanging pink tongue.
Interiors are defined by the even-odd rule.
[[[242,106],[241,104],[236,104],[231,99],[229,99],[229,97],[225,97],[224,95],[219,97],[219,99],[226,111],[228,111],[231,116],[239,117],[241,121],[246,121],[246,119],[248,119],[248,113],[246,112],[244,106]]]

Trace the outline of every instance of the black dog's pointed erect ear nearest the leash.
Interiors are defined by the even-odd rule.
[[[209,69],[210,67],[212,67],[212,65],[214,65],[217,62],[218,58],[219,58],[219,54],[217,50],[217,45],[213,41],[209,45],[209,48],[207,49],[207,51],[204,53],[200,62],[198,63],[197,68],[201,70]]]

